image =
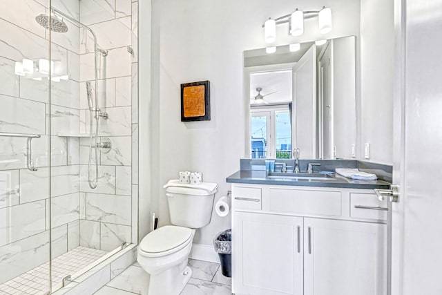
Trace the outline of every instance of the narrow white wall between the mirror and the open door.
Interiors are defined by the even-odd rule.
[[[361,159],[393,162],[393,1],[361,0]],[[376,114],[376,116],[374,116]]]

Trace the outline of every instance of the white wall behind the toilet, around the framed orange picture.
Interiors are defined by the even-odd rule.
[[[332,8],[334,17],[334,29],[325,37],[359,35],[359,1],[298,1],[298,8],[302,10],[318,10],[322,6]],[[265,0],[153,1],[152,97],[151,101],[145,97],[148,89],[143,83],[147,73],[140,69],[140,99],[148,100],[149,104],[145,109],[144,102],[140,101],[140,111],[150,111],[151,115],[151,211],[159,216],[160,226],[169,223],[162,186],[169,179],[177,178],[178,171],[202,171],[204,181],[217,182],[220,187],[215,201],[229,190],[230,185],[225,179],[239,169],[239,160],[244,156],[242,53],[247,49],[265,47],[262,23],[268,17],[288,14],[294,8],[294,2],[289,0],[278,1],[278,5]],[[148,17],[144,19],[140,14],[142,36],[142,23],[147,21]],[[314,20],[306,21],[305,34],[301,37],[282,36],[287,36],[287,26],[278,27],[278,44],[324,37],[317,32]],[[140,63],[143,58],[148,58],[147,49],[140,48]],[[211,121],[181,122],[180,84],[205,79],[211,82]],[[141,120],[142,116],[140,125]],[[143,136],[141,129],[140,136]],[[141,138],[140,146],[142,153]],[[146,184],[142,181],[141,207],[142,199],[149,198],[143,196],[142,185]],[[197,231],[194,242],[211,245],[213,236],[230,226],[230,216],[218,218],[213,214],[211,224]],[[146,231],[145,223],[140,227],[142,232]]]

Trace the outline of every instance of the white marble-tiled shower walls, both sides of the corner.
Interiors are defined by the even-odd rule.
[[[68,79],[51,83],[49,101],[46,79],[15,75],[15,61],[49,59],[48,31],[35,22],[48,12],[48,1],[0,1],[0,132],[41,135],[32,141],[34,172],[26,169],[26,139],[0,137],[0,269],[8,269],[0,272],[0,283],[47,262],[49,227],[52,258],[79,245],[110,251],[137,242],[137,4],[52,0],[90,25],[99,47],[108,50],[99,62],[99,107],[109,120],[99,129],[113,149],[99,155],[99,185],[90,190],[88,138],[57,134],[89,131],[91,39],[66,19],[68,32],[52,33],[52,60]]]

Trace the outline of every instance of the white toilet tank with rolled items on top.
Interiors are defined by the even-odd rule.
[[[209,225],[217,184],[202,182],[191,185],[169,182],[164,187],[173,225],[191,229]]]

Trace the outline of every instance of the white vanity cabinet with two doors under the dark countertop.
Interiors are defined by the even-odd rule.
[[[232,184],[236,295],[387,294],[385,207],[372,190]]]

